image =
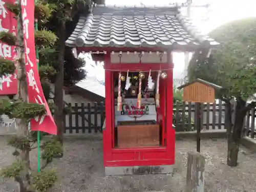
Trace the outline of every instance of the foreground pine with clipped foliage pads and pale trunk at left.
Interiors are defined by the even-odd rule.
[[[52,139],[41,144],[41,158],[43,165],[42,171],[36,173],[30,167],[30,152],[34,149],[32,146],[37,141],[36,132],[29,132],[28,124],[30,119],[44,115],[46,109],[44,105],[28,102],[27,78],[24,60],[24,44],[23,44],[23,18],[21,13],[21,1],[16,4],[6,3],[6,7],[16,15],[18,23],[18,32],[14,36],[9,32],[0,32],[0,40],[10,46],[16,46],[17,49],[17,80],[18,92],[14,100],[3,100],[0,105],[0,113],[6,114],[9,118],[15,118],[17,125],[17,135],[13,136],[8,144],[15,148],[13,155],[16,161],[10,166],[1,170],[1,176],[12,178],[19,183],[20,192],[28,191],[47,191],[56,182],[57,176],[53,170],[44,170],[44,168],[52,162],[54,158],[61,157],[63,154],[61,144]],[[51,16],[54,7],[49,4],[37,3],[35,5],[35,18],[39,23],[45,23]],[[47,30],[39,30],[35,32],[35,44],[42,53],[44,50],[51,49],[56,41],[53,32]],[[48,55],[49,56],[49,55]],[[0,75],[13,74],[15,71],[15,63],[5,58],[0,58],[1,68]],[[47,79],[55,74],[55,70],[51,65],[40,67],[40,79],[42,87],[47,84]],[[44,93],[49,98],[48,93]],[[41,134],[43,136],[43,134]]]

